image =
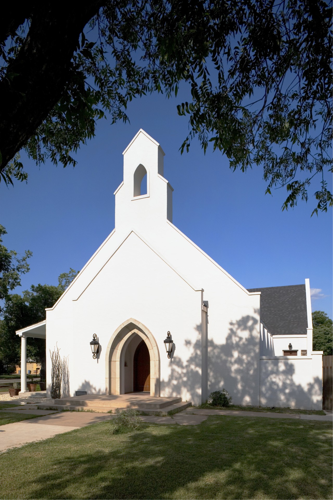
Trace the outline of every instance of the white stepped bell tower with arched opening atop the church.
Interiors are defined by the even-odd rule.
[[[163,177],[164,151],[142,128],[123,152],[124,180],[115,194],[115,228],[153,228],[172,222],[172,191]]]

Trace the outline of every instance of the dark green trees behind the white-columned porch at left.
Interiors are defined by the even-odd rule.
[[[64,283],[70,283],[76,271],[70,268],[68,273],[61,273],[57,286],[47,284],[31,285],[30,290],[6,296],[0,321],[0,359],[3,363],[18,363],[20,360],[20,339],[15,331],[29,324],[43,321],[45,307],[52,307],[64,292]],[[46,362],[45,340],[28,337],[26,342],[27,357],[41,363],[42,370]]]

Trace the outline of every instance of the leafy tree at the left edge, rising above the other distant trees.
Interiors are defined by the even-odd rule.
[[[25,274],[30,270],[27,259],[31,257],[32,252],[30,250],[25,250],[24,256],[21,258],[17,257],[17,252],[14,250],[7,250],[7,248],[2,245],[3,234],[7,234],[7,231],[0,224],[0,300],[4,300],[9,296],[9,291],[13,290],[16,286],[21,284],[20,275]],[[1,302],[0,302],[0,313],[1,313]]]

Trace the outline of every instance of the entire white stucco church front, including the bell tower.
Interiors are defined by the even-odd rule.
[[[263,397],[270,398],[263,373],[271,364],[260,364],[260,355],[277,353],[286,339],[274,337],[273,346],[270,333],[261,331],[260,292],[249,293],[172,224],[173,189],[163,177],[159,144],[140,131],[123,154],[115,229],[47,310],[47,352],[57,342],[61,355],[68,356],[70,394],[105,392],[105,348],[119,325],[132,317],[158,345],[161,395],[196,403],[225,387],[235,403],[259,404],[261,365]],[[147,171],[147,194],[134,196],[138,165]],[[163,344],[167,330],[175,344],[171,359]],[[89,346],[93,333],[100,342],[97,360]],[[303,339],[297,342],[295,348],[303,348]],[[303,366],[295,368],[297,380]],[[49,362],[47,371],[49,380]],[[132,375],[126,376],[128,388]]]

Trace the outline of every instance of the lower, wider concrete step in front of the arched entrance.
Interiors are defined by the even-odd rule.
[[[139,406],[132,406],[131,409],[134,409],[138,411],[141,414],[147,414],[147,415],[172,415],[174,413],[178,413],[178,411],[182,411],[186,409],[188,406],[191,406],[191,402],[187,401],[182,401],[181,398],[176,398],[179,399],[179,401],[173,403],[173,404],[168,404],[166,406],[163,406],[162,408],[151,408],[151,407],[139,407]],[[116,409],[118,408],[119,410],[126,410],[129,409],[128,406],[118,406],[115,407],[113,406],[112,408],[108,408],[105,405],[89,405],[89,406],[81,406],[77,404],[59,404],[59,400],[54,400],[53,399],[49,403],[39,403],[37,405],[38,409],[54,409],[54,410],[72,410],[72,411],[93,411],[96,413],[107,413],[108,411],[112,410],[113,413],[115,413]]]

